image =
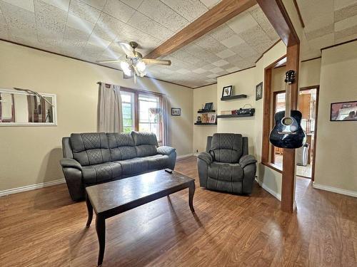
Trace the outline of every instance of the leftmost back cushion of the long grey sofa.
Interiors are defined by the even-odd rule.
[[[71,134],[73,157],[82,166],[111,161],[108,138],[104,132]]]

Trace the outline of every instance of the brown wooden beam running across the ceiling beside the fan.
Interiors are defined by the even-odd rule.
[[[213,30],[213,28],[217,28],[234,16],[241,14],[255,4],[256,0],[223,0],[181,31],[178,31],[169,40],[161,43],[160,46],[148,53],[145,58],[167,56],[208,33],[208,31]]]

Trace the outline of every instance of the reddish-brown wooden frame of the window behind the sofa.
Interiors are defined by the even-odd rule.
[[[134,94],[134,130],[139,131],[139,95],[149,95],[149,96],[155,96],[156,98],[159,98],[159,108],[163,110],[163,94],[161,93],[154,93],[151,91],[146,91],[146,90],[138,90],[138,89],[132,89],[132,88],[125,88],[121,87],[121,91],[126,92],[126,93],[133,93]],[[164,121],[163,117],[159,117],[159,137],[157,137],[158,142],[162,143],[163,142],[163,129],[164,129]]]

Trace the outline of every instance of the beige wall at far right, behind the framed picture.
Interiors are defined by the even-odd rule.
[[[331,122],[331,103],[357,100],[357,41],[323,50],[315,185],[357,197],[357,122]],[[327,188],[326,188],[327,187]]]

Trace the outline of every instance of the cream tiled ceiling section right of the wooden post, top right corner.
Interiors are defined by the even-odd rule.
[[[302,59],[321,56],[321,48],[357,38],[357,0],[297,0],[308,46]]]

